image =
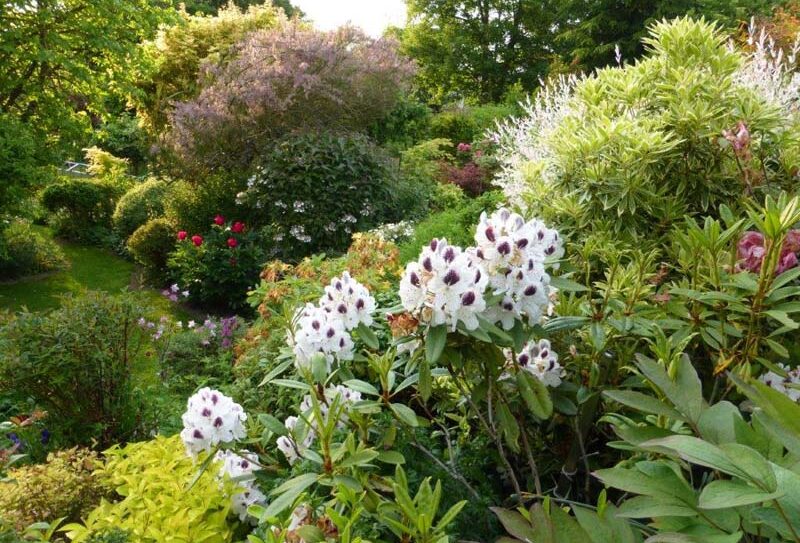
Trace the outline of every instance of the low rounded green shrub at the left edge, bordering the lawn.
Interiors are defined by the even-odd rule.
[[[14,219],[0,225],[0,280],[63,269],[67,260],[61,247],[37,232],[31,223]]]

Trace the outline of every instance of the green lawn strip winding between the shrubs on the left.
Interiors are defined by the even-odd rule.
[[[49,230],[42,228],[43,234]],[[43,311],[58,307],[59,297],[86,290],[118,293],[131,286],[136,267],[133,263],[105,249],[61,243],[70,262],[68,269],[42,276],[23,278],[0,284],[0,309]],[[161,296],[153,289],[139,290],[143,301],[154,312],[177,319],[191,318],[190,314]]]

